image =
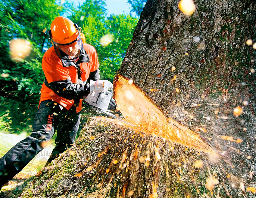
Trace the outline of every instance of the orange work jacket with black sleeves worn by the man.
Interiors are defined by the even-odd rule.
[[[53,46],[45,52],[42,59],[45,82],[42,84],[39,104],[52,100],[67,110],[75,105],[76,112],[81,111],[83,96],[90,91],[90,79],[97,80],[100,77],[95,48],[89,44],[83,44],[83,47],[84,52],[76,64],[59,58]]]

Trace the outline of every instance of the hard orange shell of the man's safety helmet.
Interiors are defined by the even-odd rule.
[[[51,34],[52,40],[58,44],[71,43],[79,36],[74,23],[63,16],[58,16],[52,21]]]

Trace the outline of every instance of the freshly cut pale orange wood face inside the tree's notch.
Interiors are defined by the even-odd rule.
[[[127,94],[129,92],[129,95]],[[198,134],[173,119],[166,119],[162,111],[136,85],[117,75],[114,80],[117,109],[124,117],[124,125],[134,131],[157,135],[192,149],[215,154]]]

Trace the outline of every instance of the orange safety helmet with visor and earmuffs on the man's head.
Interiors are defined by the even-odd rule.
[[[83,53],[83,41],[80,34],[77,24],[66,17],[58,16],[52,21],[49,39],[61,59],[74,60]],[[72,53],[70,55],[68,50],[65,50],[69,48],[75,52],[74,55]]]

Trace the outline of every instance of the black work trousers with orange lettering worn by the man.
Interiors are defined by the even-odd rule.
[[[57,130],[55,148],[47,163],[58,157],[75,142],[80,113],[75,106],[66,110],[54,101],[42,101],[30,136],[17,143],[0,159],[1,186],[19,173],[51,140]]]

